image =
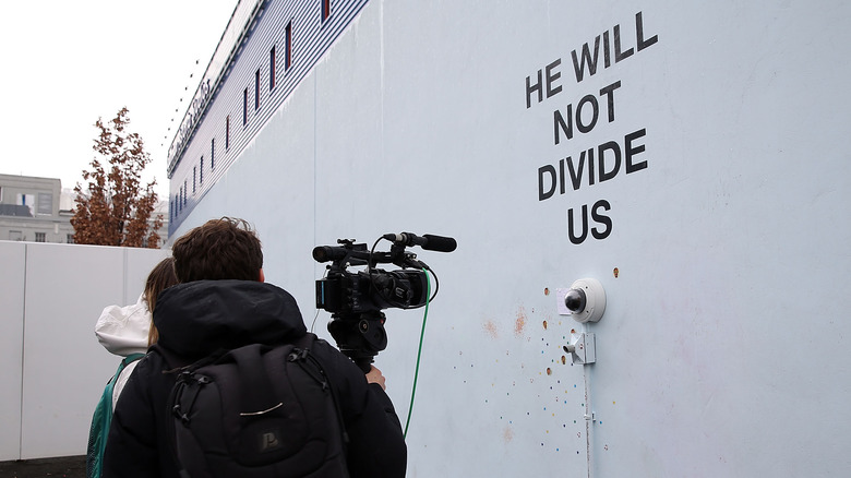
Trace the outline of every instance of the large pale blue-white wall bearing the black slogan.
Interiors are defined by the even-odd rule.
[[[457,238],[420,254],[441,291],[408,476],[847,475],[849,21],[840,1],[374,0],[178,234],[254,223],[309,323],[313,246]],[[633,55],[577,82],[572,51],[615,25]],[[596,127],[555,144],[554,111],[587,95]],[[640,130],[645,168],[539,200],[540,168]],[[596,204],[604,237],[573,243]],[[609,297],[585,327],[552,294],[580,277]],[[421,315],[387,315],[376,365],[404,421]],[[597,335],[585,370],[562,365],[572,330]]]

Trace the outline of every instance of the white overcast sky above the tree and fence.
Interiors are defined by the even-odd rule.
[[[153,159],[143,179],[166,200],[168,146],[237,3],[4,2],[0,172],[73,188],[95,157],[95,121],[127,106]]]

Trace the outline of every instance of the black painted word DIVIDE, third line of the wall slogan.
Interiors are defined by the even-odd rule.
[[[627,175],[647,168],[647,160],[635,162],[635,156],[644,153],[645,145],[634,144],[646,134],[647,130],[644,128],[626,134],[623,139],[623,148],[618,142],[608,141],[596,148],[585,150],[579,153],[579,159],[575,164],[573,157],[567,156],[559,160],[558,171],[553,165],[541,166],[538,168],[538,201],[552,198],[556,188],[560,194],[564,194],[567,190],[567,175],[570,175],[571,187],[576,191],[582,187],[584,177],[587,177],[588,186],[614,178],[621,170],[622,162]]]

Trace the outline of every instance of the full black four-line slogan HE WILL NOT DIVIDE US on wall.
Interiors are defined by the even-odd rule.
[[[610,32],[603,32],[594,40],[591,48],[588,43],[582,47],[582,52],[573,50],[573,70],[576,83],[580,83],[585,77],[592,76],[598,71],[600,63],[600,40],[602,39],[603,55],[602,65],[609,68],[619,63],[635,52],[642,51],[658,41],[658,36],[645,38],[644,22],[642,12],[635,15],[635,47],[624,49],[621,37],[621,26],[615,25]],[[612,61],[614,60],[614,61]],[[547,98],[558,95],[562,92],[561,79],[561,59],[556,59],[542,70],[537,72],[537,81],[531,76],[526,77],[526,108],[531,108],[532,99],[537,94],[538,103],[543,101],[544,94]],[[587,71],[587,76],[586,76]],[[572,140],[574,133],[586,134],[591,132],[598,124],[602,108],[603,116],[609,123],[615,119],[615,92],[621,88],[621,82],[616,81],[602,87],[597,94],[583,96],[574,107],[568,104],[566,108],[553,111],[553,142],[555,145],[562,142],[562,139]],[[620,92],[619,92],[620,94]],[[598,99],[598,96],[600,99]],[[602,108],[601,108],[602,104]],[[584,150],[578,157],[567,156],[560,159],[556,165],[548,164],[538,168],[538,201],[544,201],[555,194],[556,189],[560,194],[567,191],[570,184],[573,190],[578,190],[584,179],[587,178],[588,186],[601,183],[611,180],[618,176],[623,166],[626,175],[640,171],[647,168],[647,160],[639,159],[636,156],[645,152],[643,139],[647,130],[642,128],[625,134],[623,141],[607,141],[598,146]],[[595,239],[606,239],[612,231],[612,220],[608,216],[611,211],[611,204],[607,200],[599,200],[590,207],[590,219],[595,226],[589,229],[589,207],[584,204],[580,208],[582,227],[577,232],[577,220],[575,219],[574,208],[567,211],[567,230],[571,242],[574,244],[583,243],[590,232]]]

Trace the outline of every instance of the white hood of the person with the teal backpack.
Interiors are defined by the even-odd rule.
[[[121,357],[144,354],[149,331],[151,313],[142,296],[132,306],[105,308],[95,324],[95,335],[100,345]]]

